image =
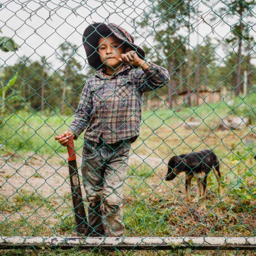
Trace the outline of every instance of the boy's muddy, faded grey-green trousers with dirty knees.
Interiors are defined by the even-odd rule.
[[[89,140],[84,143],[81,172],[90,236],[122,236],[125,232],[122,188],[130,148],[130,141],[100,146]]]

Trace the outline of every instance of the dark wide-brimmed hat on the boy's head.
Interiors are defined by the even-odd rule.
[[[93,23],[87,26],[84,30],[83,44],[87,55],[87,61],[95,70],[104,67],[104,64],[99,57],[98,44],[99,38],[108,32],[124,42],[125,48],[130,47],[137,52],[141,59],[145,58],[144,50],[134,44],[134,38],[125,29],[113,23]]]

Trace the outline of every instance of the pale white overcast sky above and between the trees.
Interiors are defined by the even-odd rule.
[[[217,1],[206,1],[205,3],[213,5],[215,2]],[[201,10],[207,23],[213,23],[210,21],[210,16],[207,15],[210,10],[209,7],[203,1],[193,1],[193,3],[198,5],[198,9]],[[110,23],[122,24],[121,26],[128,32],[133,32],[134,36],[139,36],[140,33],[150,35],[154,30],[153,21],[147,28],[141,29],[139,26],[135,32],[132,18],[140,21],[145,8],[149,10],[147,6],[151,5],[152,2],[148,0],[6,1],[0,8],[0,29],[3,32],[1,36],[13,37],[20,48],[16,52],[0,51],[0,65],[4,62],[6,65],[15,64],[23,55],[33,61],[40,60],[41,56],[46,56],[47,62],[49,61],[52,67],[57,69],[61,63],[56,59],[54,53],[65,40],[79,46],[78,53],[80,56],[77,56],[77,59],[84,65],[86,55],[82,46],[82,34],[89,23],[92,21],[104,22],[108,18]],[[208,35],[213,42],[216,42],[213,38],[231,35],[230,26],[224,22],[215,27],[215,34],[213,35],[211,26],[204,23],[201,18],[198,20],[197,29],[202,37]],[[232,22],[233,20],[230,20],[230,23]],[[235,22],[236,19],[234,19]],[[179,33],[183,36],[188,35],[185,27],[181,27]],[[202,41],[202,37],[200,41]],[[142,44],[144,41],[145,39],[140,37],[136,38],[135,43]],[[146,41],[151,45],[155,44],[154,38],[147,38]],[[192,46],[196,46],[197,35],[195,32],[191,34],[190,42]],[[217,48],[220,55],[228,54],[228,52],[222,52],[220,48]]]

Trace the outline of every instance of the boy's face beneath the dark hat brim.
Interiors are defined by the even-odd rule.
[[[122,41],[113,35],[109,35],[106,39],[99,39],[99,56],[102,63],[106,66],[116,69],[120,65],[119,58],[124,53],[124,45]]]

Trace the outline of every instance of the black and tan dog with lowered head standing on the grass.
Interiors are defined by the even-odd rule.
[[[169,160],[166,180],[173,180],[180,172],[186,174],[186,201],[190,202],[191,179],[196,178],[198,184],[198,198],[202,198],[205,207],[205,193],[207,185],[207,175],[214,168],[217,177],[219,193],[222,196],[221,173],[219,160],[210,149],[204,149],[190,154],[174,156]]]

